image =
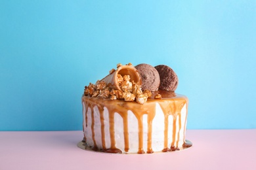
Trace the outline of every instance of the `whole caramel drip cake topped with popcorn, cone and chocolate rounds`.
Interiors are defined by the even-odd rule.
[[[80,148],[107,153],[152,154],[189,148],[188,98],[175,93],[178,78],[167,65],[117,64],[85,86]]]

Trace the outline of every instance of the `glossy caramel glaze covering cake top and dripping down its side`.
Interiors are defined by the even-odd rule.
[[[100,124],[101,124],[101,137],[102,137],[102,148],[104,152],[110,152],[110,153],[121,153],[121,150],[119,148],[116,148],[116,140],[115,140],[115,120],[114,120],[114,114],[118,113],[121,118],[123,119],[123,137],[124,137],[124,144],[125,144],[125,152],[129,151],[129,129],[128,129],[128,110],[132,110],[133,114],[135,114],[137,120],[138,120],[138,131],[139,131],[139,148],[138,153],[144,154],[145,151],[143,150],[143,115],[147,114],[148,116],[148,139],[147,139],[147,153],[153,153],[154,150],[152,150],[152,122],[154,120],[154,117],[156,115],[156,103],[158,103],[163,110],[164,113],[164,148],[163,152],[169,152],[173,150],[179,150],[178,147],[179,143],[179,133],[177,134],[177,131],[181,131],[181,109],[184,107],[186,103],[188,103],[188,99],[183,95],[177,95],[175,93],[171,92],[160,92],[162,95],[162,99],[148,99],[146,103],[143,105],[140,105],[136,102],[126,102],[121,100],[108,100],[108,99],[99,99],[97,97],[86,97],[83,96],[83,103],[85,103],[85,124],[87,126],[87,114],[88,114],[88,108],[91,109],[91,118],[92,118],[92,124],[91,124],[91,131],[92,131],[92,138],[94,148],[96,149],[96,142],[95,142],[95,120],[94,120],[94,107],[98,107],[98,110],[100,112]],[[153,95],[154,97],[154,95]],[[108,109],[109,114],[109,124],[110,124],[110,148],[106,148],[106,140],[105,140],[105,132],[104,132],[104,107]],[[168,147],[168,125],[169,125],[169,116],[173,116],[173,135],[172,135],[172,143],[171,146]],[[177,117],[179,117],[179,129],[176,129],[176,122]],[[161,126],[161,125],[160,125]],[[184,129],[185,132],[185,129]],[[176,143],[175,143],[176,141]],[[86,142],[86,138],[85,138]],[[185,141],[184,141],[185,145]]]

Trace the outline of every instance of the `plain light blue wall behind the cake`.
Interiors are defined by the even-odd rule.
[[[81,130],[117,63],[165,64],[188,129],[256,128],[256,1],[0,1],[0,130]]]

